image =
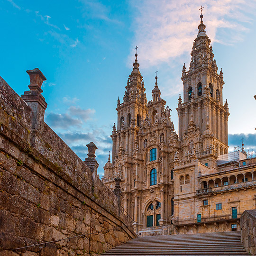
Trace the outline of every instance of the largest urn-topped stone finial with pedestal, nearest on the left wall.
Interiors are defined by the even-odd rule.
[[[38,130],[44,122],[47,107],[46,100],[41,94],[43,92],[41,86],[46,77],[38,68],[27,70],[27,73],[30,79],[30,84],[28,85],[30,91],[25,91],[21,98],[33,110],[32,128]]]

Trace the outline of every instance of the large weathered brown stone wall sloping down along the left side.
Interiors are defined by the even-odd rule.
[[[40,94],[35,102],[30,95],[27,102],[42,103]],[[44,110],[32,105],[0,78],[0,255],[99,254],[134,238],[132,230],[120,229],[120,239],[110,231],[11,250],[129,224],[116,196],[93,176],[97,170],[91,172],[44,123]]]

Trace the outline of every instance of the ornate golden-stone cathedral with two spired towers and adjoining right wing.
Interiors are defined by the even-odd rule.
[[[238,230],[241,213],[256,209],[256,158],[243,145],[228,151],[223,73],[200,18],[190,67],[182,69],[178,134],[157,76],[147,101],[137,53],[117,102],[103,182],[114,190],[121,180],[121,205],[140,236]]]

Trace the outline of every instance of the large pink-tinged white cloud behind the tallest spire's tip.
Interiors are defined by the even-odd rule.
[[[250,21],[246,13],[256,9],[253,0],[133,0],[132,5],[137,9],[134,12],[137,16],[133,24],[136,33],[133,42],[139,46],[139,60],[143,67],[168,63],[191,51],[200,23],[201,5],[204,6],[206,33],[212,42],[223,44],[241,40],[241,33],[247,30],[245,23]],[[223,40],[217,37],[220,28],[236,33],[231,32]],[[129,63],[133,56],[134,50]]]

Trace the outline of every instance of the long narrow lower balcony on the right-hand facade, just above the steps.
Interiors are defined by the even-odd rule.
[[[198,222],[197,218],[193,219],[176,219],[174,220],[174,226],[186,226],[186,225],[200,225],[204,223],[214,223],[214,222],[225,222],[225,221],[237,221],[240,219],[241,213],[238,213],[235,217],[232,214],[218,215],[218,216],[209,216],[201,218],[201,221]]]

